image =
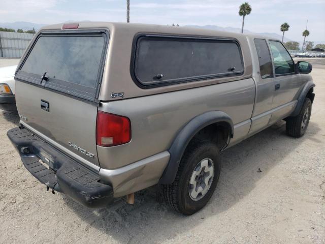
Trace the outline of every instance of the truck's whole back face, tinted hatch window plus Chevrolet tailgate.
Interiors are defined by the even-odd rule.
[[[99,31],[41,32],[15,76],[22,124],[88,165],[99,166],[96,96],[107,42]]]

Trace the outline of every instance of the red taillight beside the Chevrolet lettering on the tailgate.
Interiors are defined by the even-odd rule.
[[[116,146],[131,140],[131,123],[127,117],[98,111],[96,142],[99,146]]]

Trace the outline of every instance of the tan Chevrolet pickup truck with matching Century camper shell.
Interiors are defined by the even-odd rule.
[[[49,25],[18,65],[20,126],[7,135],[53,193],[103,207],[159,184],[173,209],[191,215],[216,188],[220,151],[281,119],[287,135],[305,134],[311,70],[263,36]]]

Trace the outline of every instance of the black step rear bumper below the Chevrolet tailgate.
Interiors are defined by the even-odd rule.
[[[47,187],[87,207],[103,207],[113,201],[112,187],[102,184],[96,172],[62,154],[27,129],[17,127],[9,130],[7,135],[25,168]]]

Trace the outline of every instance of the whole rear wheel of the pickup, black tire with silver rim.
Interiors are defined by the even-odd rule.
[[[211,141],[191,143],[185,150],[175,181],[163,186],[167,203],[184,215],[192,215],[211,198],[220,175],[218,147]]]

